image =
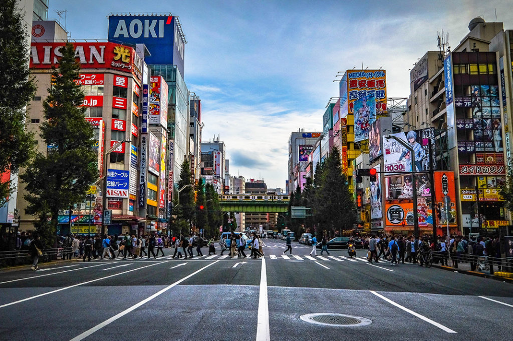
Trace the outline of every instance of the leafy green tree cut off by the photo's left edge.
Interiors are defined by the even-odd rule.
[[[17,1],[2,2],[0,14],[0,173],[17,173],[33,156],[33,135],[26,130],[26,106],[32,99],[35,84],[30,77],[29,54]],[[0,206],[15,189],[10,180],[0,182]]]

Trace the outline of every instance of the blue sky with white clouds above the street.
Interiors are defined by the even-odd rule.
[[[437,31],[455,47],[473,17],[495,21],[495,9],[512,29],[508,3],[49,0],[48,17],[67,9],[78,40],[106,38],[111,12],[180,16],[185,82],[202,99],[204,141],[220,135],[231,174],[284,188],[290,132],[321,130],[338,71],[383,67],[388,96],[407,97],[409,69],[437,49]]]

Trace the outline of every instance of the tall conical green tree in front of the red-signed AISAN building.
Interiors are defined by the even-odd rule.
[[[63,46],[61,53],[43,102],[41,137],[45,145],[52,146],[51,152],[36,154],[21,176],[27,190],[26,212],[38,216],[36,229],[46,238],[55,234],[58,211],[80,202],[98,178],[94,130],[84,119],[86,108],[80,107],[84,93],[75,83],[80,65],[72,44]]]

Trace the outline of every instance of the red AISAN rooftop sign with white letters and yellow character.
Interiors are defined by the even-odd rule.
[[[132,72],[135,51],[129,46],[115,43],[72,43],[76,61],[82,69],[114,69]],[[32,43],[30,68],[51,69],[58,66],[65,43]]]

